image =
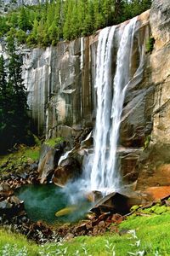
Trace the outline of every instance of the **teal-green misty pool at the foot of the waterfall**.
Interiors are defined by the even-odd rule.
[[[33,221],[74,222],[84,218],[91,207],[80,191],[74,188],[61,189],[54,184],[26,185],[18,189],[16,194],[25,201],[26,212]],[[72,207],[73,210],[56,217],[55,213],[65,207]]]

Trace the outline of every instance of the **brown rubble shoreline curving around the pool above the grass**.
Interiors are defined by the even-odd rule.
[[[120,233],[118,225],[127,218],[128,214],[120,214],[113,211],[94,211],[89,213],[86,219],[76,224],[46,224],[41,220],[31,221],[27,216],[24,201],[16,197],[15,191],[26,184],[38,184],[37,170],[31,170],[25,177],[9,174],[8,177],[0,179],[0,224],[2,227],[19,232],[29,240],[37,243],[49,241],[70,240],[75,236],[97,236],[105,231]],[[169,207],[167,197],[161,199],[161,206]],[[156,205],[156,201],[150,201],[140,209],[147,209]],[[133,211],[135,212],[135,210]],[[131,214],[131,213],[130,213]],[[137,215],[144,213],[137,212]],[[121,235],[121,234],[119,234]]]

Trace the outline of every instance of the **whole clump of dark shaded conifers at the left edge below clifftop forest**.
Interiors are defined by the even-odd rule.
[[[22,58],[15,52],[14,38],[10,32],[8,67],[5,67],[3,56],[0,59],[0,151],[2,153],[13,147],[15,143],[26,142],[29,120],[26,88],[22,79]]]

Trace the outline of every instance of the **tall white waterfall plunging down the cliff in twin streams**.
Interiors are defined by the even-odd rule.
[[[120,186],[121,175],[118,172],[116,148],[122,107],[128,84],[133,83],[133,80],[139,82],[138,76],[143,71],[144,64],[144,50],[140,50],[139,46],[139,67],[132,77],[131,62],[136,24],[137,18],[133,18],[127,24],[106,27],[99,32],[95,79],[97,113],[94,153],[88,155],[84,167],[90,190],[111,191]],[[116,67],[113,70],[114,57]]]

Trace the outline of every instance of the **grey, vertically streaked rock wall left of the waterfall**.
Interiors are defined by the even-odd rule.
[[[39,134],[56,137],[59,124],[92,121],[96,40],[94,36],[78,38],[24,55],[23,78]]]

